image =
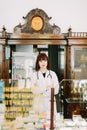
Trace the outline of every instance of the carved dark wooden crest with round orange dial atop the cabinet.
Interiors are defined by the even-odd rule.
[[[23,25],[18,24],[14,27],[14,32],[20,33],[50,33],[59,34],[61,32],[60,27],[49,23],[51,17],[49,17],[42,9],[32,9],[25,17],[23,17],[25,23]]]

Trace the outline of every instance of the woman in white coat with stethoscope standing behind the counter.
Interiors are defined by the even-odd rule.
[[[50,70],[50,62],[45,53],[40,53],[37,56],[35,72],[33,73],[31,82],[33,93],[36,95],[33,104],[35,111],[44,113],[45,116],[49,115],[51,88],[54,88],[55,95],[58,94],[59,82],[56,73]],[[56,102],[54,103],[56,105]]]

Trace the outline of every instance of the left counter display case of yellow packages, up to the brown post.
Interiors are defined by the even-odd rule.
[[[3,80],[4,81],[4,80]],[[5,79],[6,81],[6,79]],[[13,83],[15,81],[11,81]],[[8,129],[11,129],[11,126],[14,126],[14,129],[25,129],[25,125],[28,124],[29,128],[34,130],[43,128],[46,124],[47,127],[54,127],[54,89],[51,90],[51,97],[50,97],[50,113],[47,113],[45,115],[42,111],[39,113],[34,107],[34,105],[38,106],[38,109],[41,110],[40,104],[38,105],[38,102],[35,102],[35,98],[44,98],[44,95],[41,94],[35,94],[33,93],[34,88],[32,87],[26,87],[22,88],[17,86],[17,84],[9,84],[9,86],[5,86],[4,92],[3,92],[3,102],[0,104],[0,112],[1,108],[4,110],[4,112],[0,113],[3,115],[3,118],[0,115],[0,127],[2,129],[5,129],[4,126],[9,127]],[[39,102],[40,103],[40,102]],[[2,106],[2,107],[1,107]],[[50,115],[49,115],[50,114]],[[8,122],[10,123],[8,125]],[[15,126],[15,123],[19,122],[18,125]],[[3,125],[4,124],[4,125]],[[20,125],[19,125],[20,124]],[[16,128],[15,128],[16,127]],[[26,125],[27,127],[27,125]],[[28,128],[28,127],[27,127]]]

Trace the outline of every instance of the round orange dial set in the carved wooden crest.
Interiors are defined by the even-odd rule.
[[[34,16],[31,21],[31,27],[35,31],[39,31],[43,27],[43,19],[40,16]]]

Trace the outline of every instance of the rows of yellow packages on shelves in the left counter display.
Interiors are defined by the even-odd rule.
[[[32,110],[33,94],[29,88],[11,86],[5,88],[5,119],[12,121],[17,117],[28,117]]]

